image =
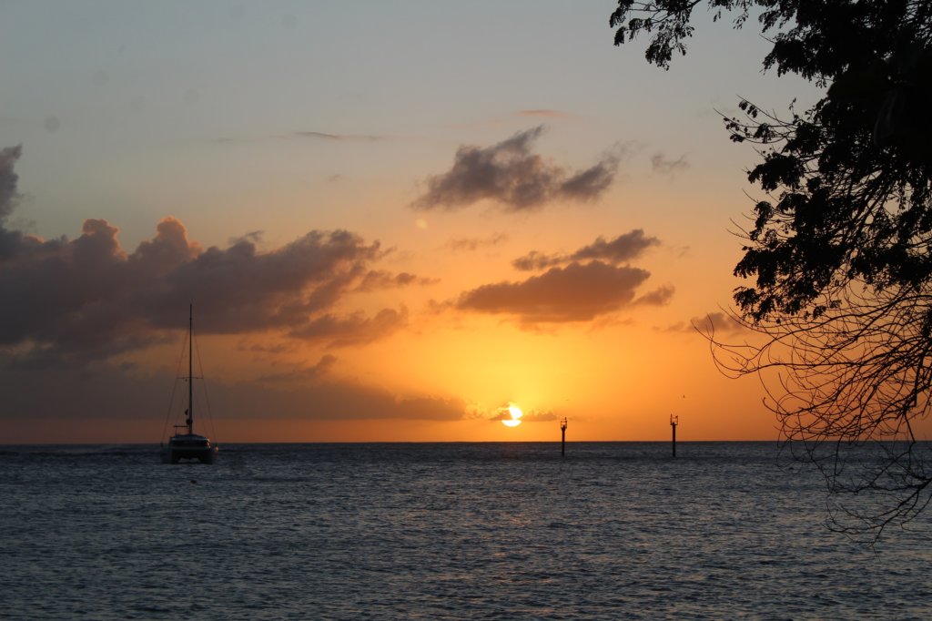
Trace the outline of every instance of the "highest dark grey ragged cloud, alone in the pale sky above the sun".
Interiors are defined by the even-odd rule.
[[[531,151],[544,127],[519,131],[497,145],[463,145],[453,167],[427,179],[415,209],[456,210],[479,200],[495,200],[507,211],[540,209],[552,200],[596,200],[610,186],[619,156],[610,153],[594,166],[569,173]]]

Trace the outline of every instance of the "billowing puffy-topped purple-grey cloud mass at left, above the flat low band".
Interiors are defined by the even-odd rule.
[[[19,147],[0,152],[2,213],[15,206]],[[328,347],[371,342],[406,324],[406,311],[373,317],[340,311],[359,290],[423,282],[375,268],[378,242],[345,230],[313,230],[262,252],[259,234],[226,248],[188,239],[169,216],[129,252],[118,229],[89,219],[75,240],[44,241],[0,221],[0,354],[18,364],[87,365],[171,338],[195,304],[201,334],[274,331]]]

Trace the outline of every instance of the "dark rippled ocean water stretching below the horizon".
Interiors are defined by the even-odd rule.
[[[932,618],[772,443],[0,448],[0,617]]]

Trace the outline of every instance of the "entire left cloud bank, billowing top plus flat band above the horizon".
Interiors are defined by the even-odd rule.
[[[301,341],[333,348],[391,334],[407,324],[404,308],[369,316],[345,311],[348,297],[427,281],[378,269],[386,255],[379,243],[345,230],[313,230],[269,251],[259,250],[258,232],[204,249],[171,216],[131,251],[118,242],[117,227],[101,219],[86,220],[74,240],[23,235],[6,228],[19,197],[20,154],[20,147],[0,151],[0,417],[162,421],[174,374],[111,356],[176,338],[191,300],[199,334],[240,334],[240,351],[274,357],[300,352]],[[326,354],[311,366],[276,373],[273,365],[258,380],[212,382],[211,403],[225,417],[466,415],[458,399],[333,378],[335,364]]]

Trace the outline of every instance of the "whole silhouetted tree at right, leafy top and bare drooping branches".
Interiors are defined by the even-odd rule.
[[[752,283],[734,318],[758,337],[707,336],[724,370],[764,380],[788,446],[857,494],[834,525],[879,536],[932,493],[914,431],[932,407],[932,2],[619,0],[615,44],[650,35],[648,62],[667,68],[699,5],[735,27],[757,18],[764,67],[825,89],[802,113],[743,100],[724,119],[761,157],[748,180],[766,198],[734,269]]]

